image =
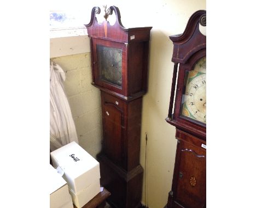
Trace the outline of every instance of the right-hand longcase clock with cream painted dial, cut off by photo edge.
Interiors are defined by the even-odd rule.
[[[174,62],[166,121],[176,127],[172,189],[165,207],[206,207],[206,11],[196,11],[183,34],[170,36]],[[174,99],[174,95],[175,99]]]

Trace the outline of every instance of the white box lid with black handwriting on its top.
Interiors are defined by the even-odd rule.
[[[96,180],[97,193],[100,192],[100,164],[81,146],[71,142],[50,154],[54,168],[61,167],[64,172],[62,177],[74,193],[80,193]]]

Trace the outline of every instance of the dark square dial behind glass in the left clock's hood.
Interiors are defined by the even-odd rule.
[[[122,86],[122,50],[97,45],[97,62],[100,79]]]

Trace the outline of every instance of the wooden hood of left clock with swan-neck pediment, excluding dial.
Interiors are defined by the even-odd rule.
[[[110,7],[120,16],[117,7]],[[98,23],[92,9],[91,21],[85,25],[91,39],[92,78],[94,85],[109,89],[125,97],[147,91],[148,42],[152,27],[124,28],[120,17],[113,26],[108,21]],[[96,46],[120,48],[122,52],[122,87],[104,82],[98,71]],[[129,81],[128,81],[129,80]]]

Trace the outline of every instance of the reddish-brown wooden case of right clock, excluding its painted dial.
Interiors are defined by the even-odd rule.
[[[195,63],[206,56],[206,36],[199,30],[202,15],[206,15],[205,10],[196,11],[183,34],[170,36],[174,45],[172,62],[175,64],[166,121],[176,126],[177,149],[166,208],[206,207],[206,149],[203,148],[206,145],[206,124],[181,116],[185,73],[193,70]]]

